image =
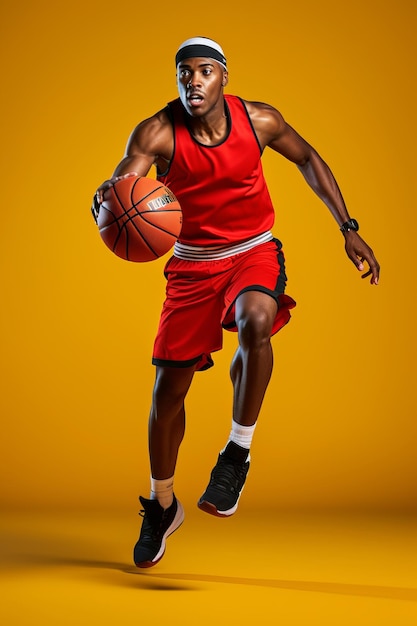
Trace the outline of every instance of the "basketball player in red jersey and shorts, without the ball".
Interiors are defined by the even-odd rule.
[[[184,513],[173,491],[185,430],[184,400],[194,373],[210,367],[221,349],[222,328],[234,330],[238,348],[230,375],[234,401],[228,442],[218,456],[198,506],[227,517],[238,506],[249,469],[249,449],[272,373],[270,338],[290,319],[295,302],[284,294],[280,242],[271,233],[274,210],[261,166],[266,147],[295,163],[330,209],[358,270],[378,283],[379,265],[358,234],[337,183],[317,152],[272,106],[224,94],[226,59],[216,42],[194,37],[176,55],[179,98],[140,123],[104,191],[124,176],[158,179],[177,196],[183,226],[166,265],[167,295],[154,345],[156,380],[149,417],[150,499],[134,549],[138,567],[163,556],[166,538]],[[202,424],[202,430],[208,427]]]

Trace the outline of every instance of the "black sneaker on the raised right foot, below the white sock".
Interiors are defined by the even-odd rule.
[[[226,450],[219,454],[208,487],[198,501],[199,509],[217,517],[233,515],[249,471],[249,461],[242,460],[247,456],[248,450],[234,443],[227,444]]]

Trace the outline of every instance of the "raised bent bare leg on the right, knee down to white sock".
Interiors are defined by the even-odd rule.
[[[230,376],[234,387],[233,419],[243,426],[255,424],[272,374],[271,329],[277,303],[271,296],[248,291],[236,301],[239,347]]]

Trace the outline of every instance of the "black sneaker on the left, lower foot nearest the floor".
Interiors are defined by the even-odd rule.
[[[184,510],[174,496],[168,509],[162,508],[158,500],[147,500],[139,496],[143,517],[139,539],[133,550],[133,560],[137,567],[152,567],[162,559],[165,540],[184,521]]]

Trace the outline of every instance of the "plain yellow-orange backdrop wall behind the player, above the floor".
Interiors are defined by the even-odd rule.
[[[163,264],[129,264],[89,214],[141,119],[176,96],[174,54],[224,47],[229,93],[275,105],[326,159],[382,265],[361,280],[327,209],[264,167],[293,320],[253,445],[247,504],[415,507],[415,9],[330,0],[120,0],[2,10],[1,462],[5,507],[123,507],[147,495]],[[196,375],[176,491],[205,487],[230,429],[235,337]]]

